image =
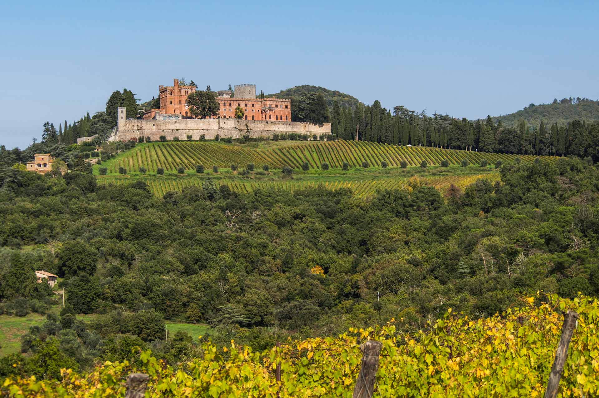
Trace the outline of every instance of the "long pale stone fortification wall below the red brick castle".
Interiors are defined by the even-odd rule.
[[[248,134],[252,138],[260,136],[271,137],[273,133],[301,133],[321,135],[331,133],[331,123],[322,126],[298,121],[276,120],[238,120],[238,119],[180,119],[180,120],[125,120],[119,119],[119,130],[111,140],[128,141],[139,136],[149,136],[152,141],[158,141],[161,135],[167,140],[178,137],[213,139],[217,134],[221,138],[242,138]]]

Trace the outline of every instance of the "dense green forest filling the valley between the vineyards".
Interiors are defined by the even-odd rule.
[[[174,362],[195,355],[184,333],[160,341],[165,319],[264,349],[392,317],[428,329],[450,307],[483,317],[537,290],[598,294],[597,168],[564,158],[500,174],[446,197],[418,182],[370,200],[322,188],[241,195],[207,179],[156,198],[142,181],[0,166],[1,313],[46,311],[52,294],[34,269],[67,292],[65,309],[23,336],[25,356],[0,360],[0,376],[56,377],[134,358],[135,345]]]

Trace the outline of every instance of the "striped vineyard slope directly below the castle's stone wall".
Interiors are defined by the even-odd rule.
[[[483,153],[461,150],[449,150],[431,147],[401,147],[389,144],[376,144],[364,141],[299,141],[270,142],[264,148],[253,148],[247,145],[226,144],[224,142],[150,142],[138,144],[116,159],[104,162],[109,174],[115,174],[119,167],[128,172],[139,172],[140,167],[147,172],[155,173],[158,168],[164,171],[176,171],[179,167],[195,170],[202,164],[207,168],[217,166],[230,168],[232,164],[243,168],[248,163],[256,166],[268,165],[270,168],[282,169],[289,166],[301,169],[304,163],[309,169],[320,169],[322,163],[328,163],[333,169],[339,169],[347,162],[350,167],[361,167],[363,163],[379,167],[386,162],[389,167],[399,167],[401,162],[409,166],[418,166],[424,160],[428,165],[440,165],[447,160],[449,165],[458,165],[467,159],[472,164],[479,164],[486,159],[490,165],[497,160],[513,162],[519,157],[523,162],[533,162],[532,155],[513,155],[499,153]],[[544,156],[548,162],[558,158]]]

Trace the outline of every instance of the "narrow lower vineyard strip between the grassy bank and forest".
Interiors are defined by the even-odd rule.
[[[479,178],[490,181],[491,183],[499,180],[499,174],[497,173],[486,173],[486,174],[472,174],[472,175],[444,175],[439,177],[426,177],[418,179],[420,183],[426,183],[441,193],[446,192],[451,184],[455,185],[460,189],[464,189],[468,185],[474,183]],[[150,191],[159,198],[162,198],[167,192],[181,192],[185,187],[198,186],[201,187],[205,178],[199,178],[195,176],[185,177],[164,177],[164,176],[148,176],[142,179],[150,187]],[[98,176],[98,184],[126,184],[130,183],[130,178],[122,178],[117,176]],[[257,189],[262,190],[278,190],[295,192],[307,188],[324,187],[328,190],[338,189],[350,189],[355,196],[359,198],[370,198],[375,195],[379,190],[385,189],[403,189],[410,183],[407,178],[380,178],[372,180],[331,180],[331,181],[311,181],[311,180],[228,180],[215,179],[214,183],[219,187],[221,185],[229,186],[233,192],[237,193],[251,193]]]

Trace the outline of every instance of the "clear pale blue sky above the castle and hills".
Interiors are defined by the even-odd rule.
[[[0,144],[173,78],[340,90],[476,119],[599,98],[599,2],[2,2]]]

